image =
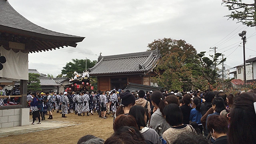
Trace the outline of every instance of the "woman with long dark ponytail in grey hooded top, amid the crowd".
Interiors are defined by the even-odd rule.
[[[164,101],[162,92],[154,91],[151,94],[151,102],[152,105],[156,108],[156,111],[151,116],[149,127],[156,130],[159,136],[162,136],[162,133],[170,128],[170,125],[164,118],[163,110],[167,104]]]

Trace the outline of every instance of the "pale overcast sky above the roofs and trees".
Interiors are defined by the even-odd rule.
[[[226,68],[243,63],[238,33],[247,31],[246,59],[256,57],[256,29],[227,20],[222,0],[8,0],[31,22],[86,37],[76,48],[29,54],[29,68],[57,76],[71,59],[147,50],[158,38],[186,40],[198,52],[218,47]],[[252,1],[252,0],[249,0]],[[250,50],[251,49],[251,50]]]

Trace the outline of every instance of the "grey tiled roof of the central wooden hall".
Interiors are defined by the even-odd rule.
[[[90,76],[116,76],[150,72],[160,59],[158,50],[100,56],[98,63],[89,69]]]

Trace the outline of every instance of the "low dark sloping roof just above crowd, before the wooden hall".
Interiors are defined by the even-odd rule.
[[[160,90],[161,88],[160,87],[155,87],[155,86],[146,86],[146,85],[143,85],[143,84],[134,84],[134,83],[130,83],[128,82],[128,85],[126,86],[126,88],[123,90],[123,91],[126,91],[126,90],[130,90],[130,92],[132,92],[133,90],[136,91],[136,90],[144,90],[144,91],[155,91],[155,90]]]

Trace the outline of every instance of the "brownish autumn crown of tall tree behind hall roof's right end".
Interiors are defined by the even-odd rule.
[[[154,40],[148,44],[148,50],[160,50],[162,57],[175,52],[179,55],[178,59],[185,56],[185,63],[188,59],[193,59],[196,55],[196,49],[191,45],[186,43],[185,40],[174,40],[172,38],[163,38]]]

